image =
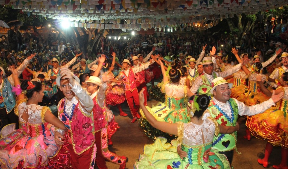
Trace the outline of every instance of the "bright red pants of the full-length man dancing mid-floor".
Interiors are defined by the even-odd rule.
[[[133,118],[135,118],[136,114],[139,111],[139,95],[138,95],[138,91],[137,91],[137,89],[134,89],[132,92],[130,90],[129,91],[125,91],[125,96],[126,96],[126,100],[127,100],[128,106],[130,108],[131,114],[132,114]],[[133,100],[134,100],[134,103],[135,103],[135,107],[134,107],[134,104],[133,104]]]

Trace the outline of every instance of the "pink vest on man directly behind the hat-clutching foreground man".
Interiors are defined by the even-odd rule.
[[[101,108],[97,102],[97,95],[93,98],[93,117],[94,117],[94,126],[95,132],[105,128],[107,126],[107,116],[105,112],[105,105]]]

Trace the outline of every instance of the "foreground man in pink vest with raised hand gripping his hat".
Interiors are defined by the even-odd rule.
[[[65,95],[58,104],[58,118],[68,129],[66,133],[56,129],[56,144],[69,143],[72,168],[93,169],[96,156],[93,100],[79,84],[79,78],[66,67],[60,69],[56,83]]]

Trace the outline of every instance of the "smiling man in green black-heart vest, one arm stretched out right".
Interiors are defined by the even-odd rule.
[[[238,101],[237,99],[230,98],[232,83],[228,83],[222,77],[213,79],[212,88],[210,93],[214,95],[213,99],[209,105],[210,116],[213,117],[217,123],[222,126],[235,126],[238,115],[243,116],[252,116],[259,114],[270,108],[272,105],[275,105],[284,95],[283,92],[278,95],[273,94],[270,99],[267,101],[256,104],[253,106],[246,106],[243,102]],[[219,153],[226,155],[230,165],[233,159],[233,151],[236,148],[237,142],[237,132],[232,134],[219,134],[214,136],[212,147],[219,151]],[[186,153],[177,148],[177,151],[181,157],[186,157]]]

